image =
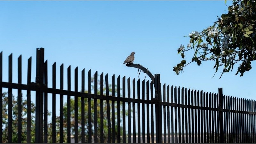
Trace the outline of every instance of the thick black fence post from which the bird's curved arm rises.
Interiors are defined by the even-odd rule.
[[[156,143],[163,143],[163,131],[162,131],[162,106],[161,106],[161,85],[160,74],[155,75],[155,99],[156,104]]]

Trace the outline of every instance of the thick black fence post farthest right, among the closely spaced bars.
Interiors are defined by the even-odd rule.
[[[224,143],[222,88],[219,88],[219,125],[220,125],[220,143]]]

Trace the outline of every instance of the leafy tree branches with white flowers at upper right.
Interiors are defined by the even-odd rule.
[[[243,76],[252,68],[251,61],[256,60],[255,13],[255,1],[234,0],[233,5],[228,6],[228,13],[218,17],[213,26],[189,34],[189,44],[186,48],[181,44],[178,54],[185,58],[185,52],[194,50],[192,60],[182,60],[173,71],[178,75],[191,62],[201,65],[202,61],[213,60],[215,74],[220,66],[222,76],[237,64],[236,75]]]

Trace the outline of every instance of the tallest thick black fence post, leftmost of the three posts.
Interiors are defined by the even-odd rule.
[[[40,86],[36,91],[36,143],[43,143],[44,48],[36,49],[36,83]]]

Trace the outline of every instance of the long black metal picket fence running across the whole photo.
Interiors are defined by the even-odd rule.
[[[163,87],[160,75],[151,82],[140,79],[112,76],[112,90],[109,91],[108,74],[100,75],[100,94],[98,94],[98,72],[94,74],[94,93],[91,93],[91,70],[88,72],[88,92],[85,93],[85,70],[81,73],[81,92],[78,92],[78,68],[75,68],[74,91],[71,91],[71,68],[67,69],[67,90],[63,89],[64,68],[60,66],[60,89],[56,88],[56,63],[52,65],[52,88],[48,87],[48,64],[44,61],[44,48],[36,51],[36,81],[31,83],[31,57],[28,59],[27,84],[21,84],[21,56],[18,58],[18,83],[12,82],[12,54],[9,56],[8,82],[3,82],[3,57],[0,53],[0,93],[8,88],[8,143],[17,135],[21,143],[24,133],[21,123],[22,90],[26,90],[27,130],[26,142],[35,137],[36,143],[47,143],[48,130],[48,94],[52,94],[51,140],[60,143],[255,143],[256,142],[256,105],[255,100],[225,96],[222,88],[218,93],[190,90],[187,88]],[[115,80],[117,87],[115,87]],[[105,81],[105,87],[103,82]],[[122,88],[121,88],[122,84]],[[140,84],[142,84],[140,86]],[[105,90],[104,90],[105,88]],[[12,129],[12,90],[18,90],[17,133]],[[35,136],[31,135],[31,91],[36,92]],[[122,96],[121,96],[122,92]],[[132,92],[132,93],[131,93]],[[136,94],[137,92],[137,94]],[[105,94],[104,94],[105,93]],[[109,94],[111,93],[111,94]],[[60,99],[56,100],[56,95]],[[64,117],[64,96],[67,96],[67,117]],[[71,119],[71,97],[74,97],[74,120]],[[81,113],[78,113],[78,97],[81,97]],[[80,99],[79,99],[80,100]],[[56,135],[56,102],[60,102],[59,134]],[[87,102],[87,103],[85,103]],[[3,100],[0,99],[0,111]],[[88,108],[85,108],[87,105]],[[98,108],[99,105],[99,108]],[[105,106],[106,105],[106,109]],[[104,107],[103,107],[104,106]],[[79,106],[80,107],[80,106]],[[87,110],[85,110],[87,109]],[[99,114],[98,114],[99,111]],[[115,113],[115,111],[117,111]],[[107,113],[104,119],[104,112]],[[137,114],[136,114],[137,113]],[[81,119],[78,117],[81,115]],[[117,115],[117,116],[115,116]],[[3,130],[3,115],[0,115],[0,127]],[[64,120],[65,118],[65,120]],[[64,125],[64,121],[67,123]],[[78,122],[79,121],[79,122]],[[106,121],[106,122],[104,122]],[[72,126],[72,123],[74,125]],[[104,125],[105,124],[105,125]],[[86,127],[84,125],[87,125]],[[127,127],[128,125],[128,127]],[[94,127],[92,127],[94,126]],[[104,127],[107,127],[107,131]],[[127,129],[128,128],[128,129]],[[100,132],[98,132],[98,129]],[[73,132],[73,131],[74,132]],[[78,131],[79,130],[79,131]],[[64,135],[64,133],[67,135]],[[72,131],[72,132],[71,132]],[[73,133],[73,134],[72,134]],[[107,133],[107,138],[104,134]],[[106,140],[105,140],[106,139]],[[3,131],[0,132],[3,141]]]

